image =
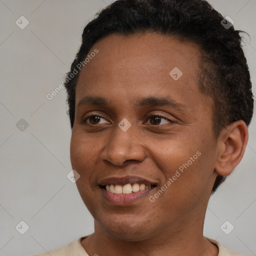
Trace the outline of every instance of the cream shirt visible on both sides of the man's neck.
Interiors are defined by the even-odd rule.
[[[86,236],[80,237],[77,241],[69,242],[66,246],[53,249],[48,252],[43,252],[40,254],[32,255],[32,256],[89,256],[87,252],[84,250],[84,248],[81,245],[81,239],[83,239]],[[205,237],[207,238],[207,237]],[[234,252],[232,250],[229,250],[225,247],[223,247],[221,244],[219,244],[218,241],[207,238],[212,243],[216,244],[218,247],[218,256],[242,256],[241,254]],[[91,255],[96,256],[97,254]]]

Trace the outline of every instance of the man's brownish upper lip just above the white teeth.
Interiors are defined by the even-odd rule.
[[[99,185],[107,185],[107,184],[113,184],[113,185],[125,185],[129,183],[142,183],[145,185],[157,185],[158,181],[156,180],[148,180],[143,177],[138,177],[138,176],[123,176],[123,177],[108,177],[101,179],[98,184]]]

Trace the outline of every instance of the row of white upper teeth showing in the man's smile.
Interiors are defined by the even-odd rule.
[[[145,185],[145,184],[125,184],[125,185],[113,185],[113,184],[107,184],[106,185],[106,191],[111,192],[111,193],[116,193],[116,194],[128,194],[131,192],[137,192],[139,190],[145,190],[149,189],[151,186],[150,185]]]

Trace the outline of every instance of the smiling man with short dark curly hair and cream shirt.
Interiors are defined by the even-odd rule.
[[[117,0],[87,24],[65,87],[95,230],[38,255],[239,255],[203,222],[248,140],[240,40],[204,0]]]

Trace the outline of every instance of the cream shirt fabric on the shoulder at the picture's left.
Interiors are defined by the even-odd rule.
[[[35,254],[32,256],[88,256],[86,251],[81,246],[80,240],[86,236],[80,237],[77,241],[71,241],[66,246],[46,251],[40,254]]]

